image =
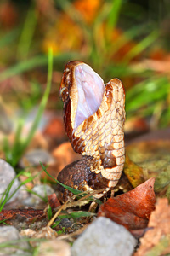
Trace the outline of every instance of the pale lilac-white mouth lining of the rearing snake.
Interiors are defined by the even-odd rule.
[[[105,84],[98,73],[87,64],[78,65],[75,69],[78,88],[78,106],[74,128],[94,114],[101,105]]]

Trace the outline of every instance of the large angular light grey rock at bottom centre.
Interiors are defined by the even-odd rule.
[[[99,217],[82,233],[71,247],[72,256],[130,256],[135,238],[109,218]]]

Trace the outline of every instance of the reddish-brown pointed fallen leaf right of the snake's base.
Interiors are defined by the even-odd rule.
[[[98,217],[111,218],[127,230],[146,228],[150,213],[155,209],[154,182],[155,177],[151,177],[135,189],[110,198],[99,207]]]

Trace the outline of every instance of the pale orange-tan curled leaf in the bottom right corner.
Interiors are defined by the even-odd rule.
[[[141,246],[133,256],[169,255],[170,253],[170,206],[167,198],[159,198],[156,210],[151,213],[148,231],[140,239]]]

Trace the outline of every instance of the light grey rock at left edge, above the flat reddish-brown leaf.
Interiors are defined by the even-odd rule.
[[[0,159],[0,198],[2,198],[3,192],[8,188],[8,184],[12,181],[12,179],[16,176],[14,172],[14,168],[10,166],[5,160]],[[17,178],[15,178],[14,183],[9,191],[8,196],[14,193],[14,190],[19,187],[20,183]],[[18,191],[13,195],[13,197],[8,201],[14,201],[14,199],[18,195]]]

